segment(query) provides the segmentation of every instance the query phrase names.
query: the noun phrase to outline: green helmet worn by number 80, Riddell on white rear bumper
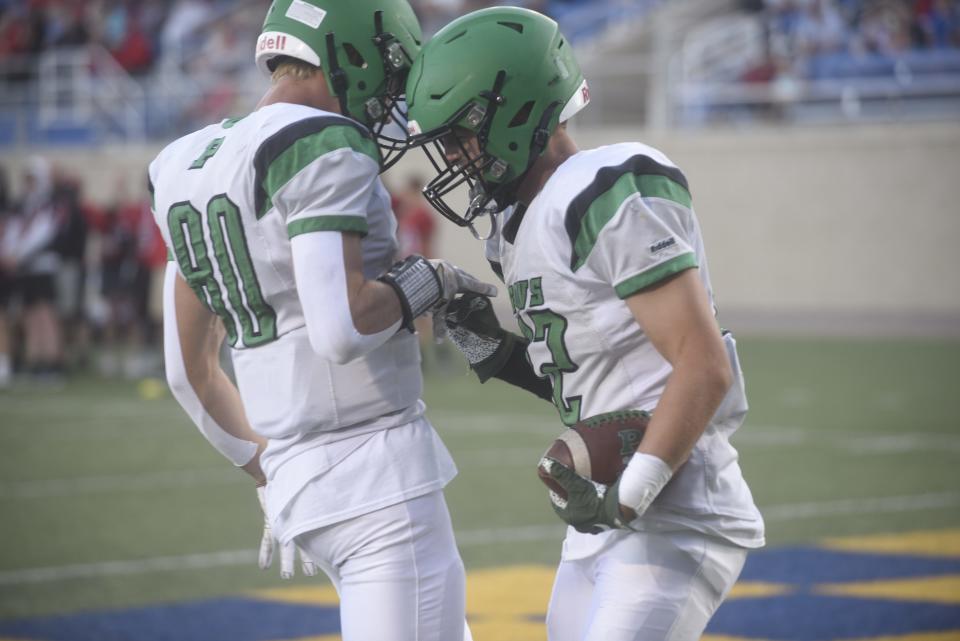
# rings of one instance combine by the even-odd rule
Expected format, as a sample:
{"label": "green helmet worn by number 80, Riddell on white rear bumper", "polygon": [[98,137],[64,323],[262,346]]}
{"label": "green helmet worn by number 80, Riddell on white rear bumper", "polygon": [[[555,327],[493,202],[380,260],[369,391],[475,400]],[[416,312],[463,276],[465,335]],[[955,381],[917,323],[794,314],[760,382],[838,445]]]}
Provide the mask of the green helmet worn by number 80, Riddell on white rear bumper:
{"label": "green helmet worn by number 80, Riddell on white rear bumper", "polygon": [[[274,0],[256,60],[267,74],[283,56],[322,68],[343,115],[373,131],[386,168],[407,148],[402,96],[422,41],[407,0]],[[385,131],[391,122],[400,135]]]}

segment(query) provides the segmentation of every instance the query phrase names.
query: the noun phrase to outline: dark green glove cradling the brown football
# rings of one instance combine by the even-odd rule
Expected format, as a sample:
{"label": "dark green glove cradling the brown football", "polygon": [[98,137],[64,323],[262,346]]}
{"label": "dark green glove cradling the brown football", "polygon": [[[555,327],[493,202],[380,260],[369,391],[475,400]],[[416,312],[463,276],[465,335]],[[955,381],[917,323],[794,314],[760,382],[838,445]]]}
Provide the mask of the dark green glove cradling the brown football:
{"label": "dark green glove cradling the brown football", "polygon": [[550,492],[553,511],[577,532],[599,534],[610,529],[633,529],[620,513],[620,479],[613,485],[603,485],[550,457],[544,457],[541,466],[567,493],[563,499],[556,492]]}

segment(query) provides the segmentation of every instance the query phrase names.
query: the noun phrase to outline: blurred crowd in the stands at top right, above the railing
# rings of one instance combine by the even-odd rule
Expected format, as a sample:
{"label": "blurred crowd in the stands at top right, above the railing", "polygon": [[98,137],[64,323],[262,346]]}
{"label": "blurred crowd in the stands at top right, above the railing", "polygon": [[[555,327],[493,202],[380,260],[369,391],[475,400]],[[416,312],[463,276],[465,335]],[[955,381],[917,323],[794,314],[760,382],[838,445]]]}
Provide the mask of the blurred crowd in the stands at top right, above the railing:
{"label": "blurred crowd in the stands at top right, above the railing", "polygon": [[[960,48],[960,0],[750,0],[768,57],[745,80],[830,76],[868,59]],[[856,71],[856,70],[854,70]],[[870,69],[862,69],[870,75]],[[851,75],[856,75],[851,74]]]}

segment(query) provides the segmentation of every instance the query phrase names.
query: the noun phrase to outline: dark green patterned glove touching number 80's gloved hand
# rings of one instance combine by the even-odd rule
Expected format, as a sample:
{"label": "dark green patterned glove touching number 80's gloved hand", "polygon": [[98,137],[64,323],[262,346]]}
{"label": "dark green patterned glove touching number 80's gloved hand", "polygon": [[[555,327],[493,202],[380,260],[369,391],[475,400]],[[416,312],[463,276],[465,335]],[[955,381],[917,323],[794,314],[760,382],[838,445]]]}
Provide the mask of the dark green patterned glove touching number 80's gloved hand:
{"label": "dark green patterned glove touching number 80's gloved hand", "polygon": [[443,320],[447,337],[481,383],[503,369],[518,337],[500,327],[488,297],[468,292],[455,298],[447,305]]}

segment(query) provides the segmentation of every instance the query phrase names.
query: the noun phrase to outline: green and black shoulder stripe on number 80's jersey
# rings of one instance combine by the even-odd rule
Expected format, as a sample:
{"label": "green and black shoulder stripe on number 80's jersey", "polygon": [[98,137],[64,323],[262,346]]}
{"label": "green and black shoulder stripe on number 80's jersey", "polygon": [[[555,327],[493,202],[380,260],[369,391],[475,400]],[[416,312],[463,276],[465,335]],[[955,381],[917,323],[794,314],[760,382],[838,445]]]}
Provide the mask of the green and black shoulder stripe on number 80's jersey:
{"label": "green and black shoulder stripe on number 80's jersey", "polygon": [[301,169],[336,149],[349,148],[380,165],[380,150],[361,124],[341,116],[317,116],[288,125],[267,138],[253,158],[254,208],[262,218],[272,198]]}

